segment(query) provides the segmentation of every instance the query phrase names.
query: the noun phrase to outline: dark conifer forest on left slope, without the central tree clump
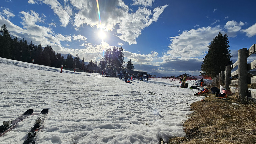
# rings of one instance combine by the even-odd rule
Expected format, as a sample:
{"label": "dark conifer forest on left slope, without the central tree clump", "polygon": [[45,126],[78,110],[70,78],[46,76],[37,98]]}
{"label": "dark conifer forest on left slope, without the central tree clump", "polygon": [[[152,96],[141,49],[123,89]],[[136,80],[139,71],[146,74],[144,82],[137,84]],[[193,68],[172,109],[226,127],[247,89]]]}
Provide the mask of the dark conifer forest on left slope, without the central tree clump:
{"label": "dark conifer forest on left slope, without the central tree clump", "polygon": [[61,67],[62,64],[66,68],[74,68],[75,64],[81,67],[78,54],[74,59],[69,54],[65,60],[63,55],[55,53],[49,45],[42,47],[41,44],[32,44],[32,41],[28,43],[27,40],[18,40],[18,37],[12,39],[5,24],[0,29],[0,57],[29,63],[34,59],[35,64],[52,67]]}

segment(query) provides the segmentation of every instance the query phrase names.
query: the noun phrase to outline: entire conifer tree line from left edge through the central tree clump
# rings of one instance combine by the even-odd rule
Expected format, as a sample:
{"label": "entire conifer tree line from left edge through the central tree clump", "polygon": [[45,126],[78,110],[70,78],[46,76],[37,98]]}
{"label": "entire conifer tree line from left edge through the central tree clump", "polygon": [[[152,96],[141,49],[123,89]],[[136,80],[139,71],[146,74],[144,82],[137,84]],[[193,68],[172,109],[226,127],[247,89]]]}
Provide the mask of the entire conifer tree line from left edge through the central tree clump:
{"label": "entire conifer tree line from left edge through the central tree clump", "polygon": [[68,54],[67,58],[64,59],[63,55],[55,53],[49,45],[42,47],[41,44],[34,45],[32,41],[28,44],[27,40],[18,40],[18,37],[12,39],[5,24],[1,26],[0,30],[0,57],[29,63],[32,63],[32,59],[34,59],[35,64],[52,67],[61,67],[63,65],[64,68],[70,69],[79,68],[87,70],[89,66],[99,67],[102,71],[112,72],[119,72],[125,68],[128,70],[134,69],[131,59],[128,62],[129,64],[127,64],[128,66],[125,67],[122,47],[117,48],[114,46],[108,48],[98,64],[97,61],[90,61],[86,66],[84,58],[81,61],[78,54],[76,54],[75,58]]}

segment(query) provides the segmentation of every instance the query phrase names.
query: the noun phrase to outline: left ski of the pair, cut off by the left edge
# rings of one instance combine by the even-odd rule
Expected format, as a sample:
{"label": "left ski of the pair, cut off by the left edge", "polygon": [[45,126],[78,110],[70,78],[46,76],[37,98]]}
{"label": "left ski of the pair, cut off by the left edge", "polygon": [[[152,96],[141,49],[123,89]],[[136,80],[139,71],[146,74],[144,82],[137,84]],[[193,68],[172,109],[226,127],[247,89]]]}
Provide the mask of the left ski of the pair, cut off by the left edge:
{"label": "left ski of the pair, cut off by the left edge", "polygon": [[25,111],[22,115],[20,115],[18,118],[16,118],[15,120],[4,121],[3,125],[0,126],[0,136],[2,136],[4,133],[11,130],[13,127],[15,127],[15,125],[18,122],[23,121],[25,118],[30,116],[33,112],[34,112],[34,110],[29,109],[29,110]]}

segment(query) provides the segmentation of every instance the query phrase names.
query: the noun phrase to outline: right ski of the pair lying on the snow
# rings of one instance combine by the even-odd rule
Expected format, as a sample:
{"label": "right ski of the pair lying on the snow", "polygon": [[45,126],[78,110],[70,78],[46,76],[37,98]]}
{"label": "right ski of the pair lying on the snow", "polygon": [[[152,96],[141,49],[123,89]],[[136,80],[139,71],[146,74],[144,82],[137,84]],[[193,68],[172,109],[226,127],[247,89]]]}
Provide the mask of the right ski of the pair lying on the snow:
{"label": "right ski of the pair lying on the snow", "polygon": [[35,125],[28,132],[28,136],[23,144],[34,144],[36,141],[36,135],[41,131],[46,116],[48,114],[48,109],[43,109],[36,119]]}

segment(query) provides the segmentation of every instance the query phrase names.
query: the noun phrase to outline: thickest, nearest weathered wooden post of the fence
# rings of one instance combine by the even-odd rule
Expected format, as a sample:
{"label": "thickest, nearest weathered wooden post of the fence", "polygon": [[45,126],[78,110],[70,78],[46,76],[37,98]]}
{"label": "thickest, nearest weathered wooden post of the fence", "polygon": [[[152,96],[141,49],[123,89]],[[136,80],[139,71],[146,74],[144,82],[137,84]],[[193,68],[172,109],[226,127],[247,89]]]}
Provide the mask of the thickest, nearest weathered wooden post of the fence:
{"label": "thickest, nearest weathered wooden post of the fence", "polygon": [[246,102],[247,85],[247,48],[238,50],[238,95]]}

